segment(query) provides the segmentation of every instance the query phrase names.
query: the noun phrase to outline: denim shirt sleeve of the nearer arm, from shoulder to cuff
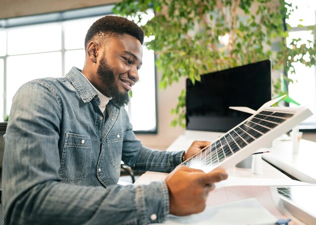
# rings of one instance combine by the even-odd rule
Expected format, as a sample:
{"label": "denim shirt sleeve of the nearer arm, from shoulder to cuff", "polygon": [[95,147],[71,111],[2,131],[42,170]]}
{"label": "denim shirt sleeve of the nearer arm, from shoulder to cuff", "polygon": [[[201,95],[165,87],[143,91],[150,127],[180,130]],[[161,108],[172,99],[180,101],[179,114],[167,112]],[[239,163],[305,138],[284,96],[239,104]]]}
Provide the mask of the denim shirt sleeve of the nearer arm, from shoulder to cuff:
{"label": "denim shirt sleeve of the nearer arm, from shoulder to cuff", "polygon": [[148,224],[169,213],[164,181],[125,187],[78,186],[59,175],[61,104],[37,81],[15,95],[6,134],[6,224]]}

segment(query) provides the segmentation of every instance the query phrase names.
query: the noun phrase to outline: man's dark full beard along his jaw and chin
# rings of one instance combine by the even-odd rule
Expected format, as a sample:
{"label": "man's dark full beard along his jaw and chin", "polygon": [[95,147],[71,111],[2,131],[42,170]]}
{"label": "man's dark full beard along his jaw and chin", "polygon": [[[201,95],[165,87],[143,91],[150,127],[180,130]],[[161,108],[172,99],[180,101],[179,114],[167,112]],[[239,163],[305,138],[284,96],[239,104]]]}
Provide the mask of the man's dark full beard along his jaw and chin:
{"label": "man's dark full beard along his jaw and chin", "polygon": [[97,68],[97,74],[102,81],[103,93],[107,93],[108,97],[112,97],[114,104],[122,107],[129,102],[128,92],[121,93],[116,85],[116,79],[113,70],[107,63],[104,55],[100,59],[100,64]]}

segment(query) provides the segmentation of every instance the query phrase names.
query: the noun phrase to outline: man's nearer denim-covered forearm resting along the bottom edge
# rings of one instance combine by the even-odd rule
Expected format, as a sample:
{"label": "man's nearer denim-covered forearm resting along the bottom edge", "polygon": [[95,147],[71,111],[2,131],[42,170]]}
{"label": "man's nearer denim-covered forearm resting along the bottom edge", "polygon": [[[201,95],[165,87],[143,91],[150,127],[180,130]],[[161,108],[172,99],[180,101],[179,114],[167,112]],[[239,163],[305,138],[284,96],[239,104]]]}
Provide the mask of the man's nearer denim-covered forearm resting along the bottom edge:
{"label": "man's nearer denim-covered forearm resting along the bottom edge", "polygon": [[164,181],[107,189],[46,182],[19,196],[10,212],[8,224],[148,224],[165,220],[169,195]]}

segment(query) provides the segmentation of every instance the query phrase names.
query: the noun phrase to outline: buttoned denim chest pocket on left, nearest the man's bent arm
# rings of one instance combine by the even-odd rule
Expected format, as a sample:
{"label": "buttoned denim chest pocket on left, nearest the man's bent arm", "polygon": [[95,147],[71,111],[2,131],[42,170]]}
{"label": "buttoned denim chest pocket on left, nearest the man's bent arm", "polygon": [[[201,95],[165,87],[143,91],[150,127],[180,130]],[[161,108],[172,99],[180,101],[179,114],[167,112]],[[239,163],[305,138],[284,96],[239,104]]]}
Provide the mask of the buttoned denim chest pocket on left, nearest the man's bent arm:
{"label": "buttoned denim chest pocket on left, nearest the man's bent arm", "polygon": [[66,133],[60,176],[64,182],[83,180],[92,163],[90,136]]}

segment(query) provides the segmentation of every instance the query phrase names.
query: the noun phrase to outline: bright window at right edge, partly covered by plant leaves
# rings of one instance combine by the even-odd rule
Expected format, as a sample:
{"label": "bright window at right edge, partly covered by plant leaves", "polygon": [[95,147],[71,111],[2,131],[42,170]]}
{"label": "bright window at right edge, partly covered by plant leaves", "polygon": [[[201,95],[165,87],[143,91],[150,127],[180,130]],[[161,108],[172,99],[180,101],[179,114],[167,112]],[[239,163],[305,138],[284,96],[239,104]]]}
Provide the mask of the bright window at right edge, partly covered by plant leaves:
{"label": "bright window at right edge, partly covered by plant leaves", "polygon": [[[293,1],[286,0],[287,3],[292,3],[292,7],[297,6],[296,10],[286,22],[292,27],[289,31],[287,43],[291,43],[293,38],[301,38],[302,43],[307,43],[307,40],[314,42],[315,37],[308,31],[308,26],[315,26],[316,4],[314,0]],[[315,29],[315,28],[314,28]],[[299,44],[299,43],[298,43]],[[300,106],[308,107],[313,115],[307,118],[300,124],[300,128],[315,130],[316,129],[316,69],[315,66],[306,67],[302,63],[295,64],[296,75],[293,76],[290,72],[288,77],[297,80],[294,84],[288,86],[289,96]],[[291,107],[298,107],[290,103]]]}

